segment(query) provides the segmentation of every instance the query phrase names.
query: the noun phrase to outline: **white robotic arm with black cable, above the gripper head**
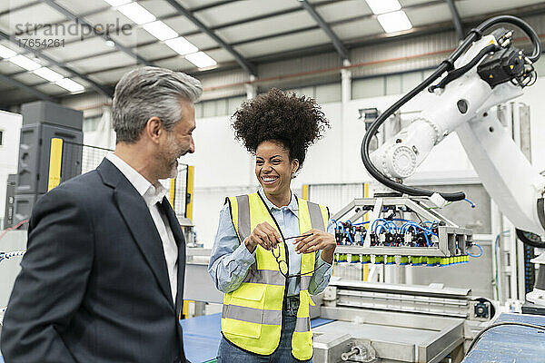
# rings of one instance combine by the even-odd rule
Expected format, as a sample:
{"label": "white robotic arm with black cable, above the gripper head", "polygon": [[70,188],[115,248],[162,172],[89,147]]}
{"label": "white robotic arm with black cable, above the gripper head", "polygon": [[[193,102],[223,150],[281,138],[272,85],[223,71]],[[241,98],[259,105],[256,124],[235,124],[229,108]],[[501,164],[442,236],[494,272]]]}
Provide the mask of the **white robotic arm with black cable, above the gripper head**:
{"label": "white robotic arm with black cable, above the gripper head", "polygon": [[[495,23],[510,21],[513,17],[499,18],[503,19]],[[520,19],[517,21],[516,25],[520,26]],[[523,30],[535,34],[529,26]],[[479,32],[479,29],[475,31]],[[532,41],[535,40],[533,34],[530,34]],[[362,159],[379,182],[410,195],[430,196],[431,191],[402,186],[399,182],[415,172],[433,146],[456,131],[484,187],[500,210],[517,229],[544,235],[542,194],[545,178],[520,152],[495,114],[489,112],[490,107],[520,96],[522,88],[534,80],[529,58],[534,61],[539,58],[539,40],[534,44],[532,57],[527,57],[509,46],[511,35],[512,32],[501,29],[481,37],[479,41],[466,42],[465,53],[459,52],[451,73],[443,77],[438,86],[431,87],[434,88],[432,101],[420,116],[371,155],[365,155],[364,139]],[[436,74],[443,73],[440,72],[438,69]],[[394,106],[399,109],[400,103]],[[394,106],[385,113],[392,113]],[[380,123],[375,126],[376,131]],[[374,133],[372,129],[370,132]],[[370,138],[371,133],[366,134],[366,138]],[[368,166],[370,161],[374,170]],[[396,184],[400,187],[396,188]],[[443,194],[443,198],[455,201],[464,196],[463,193]]]}

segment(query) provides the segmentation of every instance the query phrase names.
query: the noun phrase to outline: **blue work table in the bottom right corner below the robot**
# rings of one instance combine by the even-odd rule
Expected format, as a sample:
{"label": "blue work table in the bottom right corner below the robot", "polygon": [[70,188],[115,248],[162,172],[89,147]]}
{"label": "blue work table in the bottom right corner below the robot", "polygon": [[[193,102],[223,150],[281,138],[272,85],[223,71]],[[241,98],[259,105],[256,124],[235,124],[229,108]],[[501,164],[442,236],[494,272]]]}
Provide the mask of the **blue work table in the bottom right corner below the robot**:
{"label": "blue work table in the bottom right corner below the robot", "polygon": [[[516,321],[545,327],[545,317],[501,314],[496,322]],[[543,363],[545,330],[505,325],[485,332],[462,363]]]}

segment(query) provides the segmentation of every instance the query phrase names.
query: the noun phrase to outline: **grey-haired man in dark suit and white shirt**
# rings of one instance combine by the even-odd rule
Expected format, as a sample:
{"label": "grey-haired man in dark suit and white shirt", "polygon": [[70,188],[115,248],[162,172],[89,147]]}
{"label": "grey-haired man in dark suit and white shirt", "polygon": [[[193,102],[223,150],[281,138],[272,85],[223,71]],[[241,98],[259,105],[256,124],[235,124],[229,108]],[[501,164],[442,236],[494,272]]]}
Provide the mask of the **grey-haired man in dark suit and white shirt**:
{"label": "grey-haired man in dark suit and white shirt", "polygon": [[194,152],[199,81],[144,67],[115,87],[114,154],[36,203],[5,312],[6,363],[186,362],[185,242],[158,182]]}

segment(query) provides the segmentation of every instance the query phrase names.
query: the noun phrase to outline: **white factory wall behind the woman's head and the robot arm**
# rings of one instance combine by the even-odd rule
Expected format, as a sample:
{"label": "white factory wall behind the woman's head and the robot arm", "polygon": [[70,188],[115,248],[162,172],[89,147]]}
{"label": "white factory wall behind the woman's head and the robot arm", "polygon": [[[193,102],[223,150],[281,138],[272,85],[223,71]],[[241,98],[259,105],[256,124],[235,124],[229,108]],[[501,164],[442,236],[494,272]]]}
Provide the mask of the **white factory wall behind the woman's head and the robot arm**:
{"label": "white factory wall behind the woman's head and the robot arm", "polygon": [[[421,110],[427,97],[424,95],[420,100],[414,100],[401,111]],[[299,190],[302,184],[310,183],[370,182],[360,156],[364,125],[362,120],[358,120],[358,109],[377,107],[384,110],[399,98],[398,94],[352,100],[344,125],[341,103],[322,104],[332,128],[322,140],[310,147],[302,172],[292,187]],[[199,242],[205,248],[212,248],[224,198],[254,190],[257,181],[253,173],[253,157],[242,144],[234,141],[229,116],[199,119],[193,134],[196,152],[184,158],[184,162],[195,166],[193,222]],[[415,179],[461,175],[474,177],[476,174],[453,134],[422,163]]]}

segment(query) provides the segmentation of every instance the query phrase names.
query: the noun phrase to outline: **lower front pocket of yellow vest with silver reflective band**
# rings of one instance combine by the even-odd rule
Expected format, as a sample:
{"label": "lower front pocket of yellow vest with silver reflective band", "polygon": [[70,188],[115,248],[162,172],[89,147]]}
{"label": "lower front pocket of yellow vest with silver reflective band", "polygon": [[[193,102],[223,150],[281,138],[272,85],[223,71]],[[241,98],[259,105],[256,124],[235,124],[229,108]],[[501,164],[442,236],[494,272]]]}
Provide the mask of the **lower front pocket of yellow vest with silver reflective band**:
{"label": "lower front pocket of yellow vest with silver reflective band", "polygon": [[233,291],[223,317],[226,319],[223,320],[223,334],[247,338],[261,336],[265,289],[263,285],[244,283]]}

